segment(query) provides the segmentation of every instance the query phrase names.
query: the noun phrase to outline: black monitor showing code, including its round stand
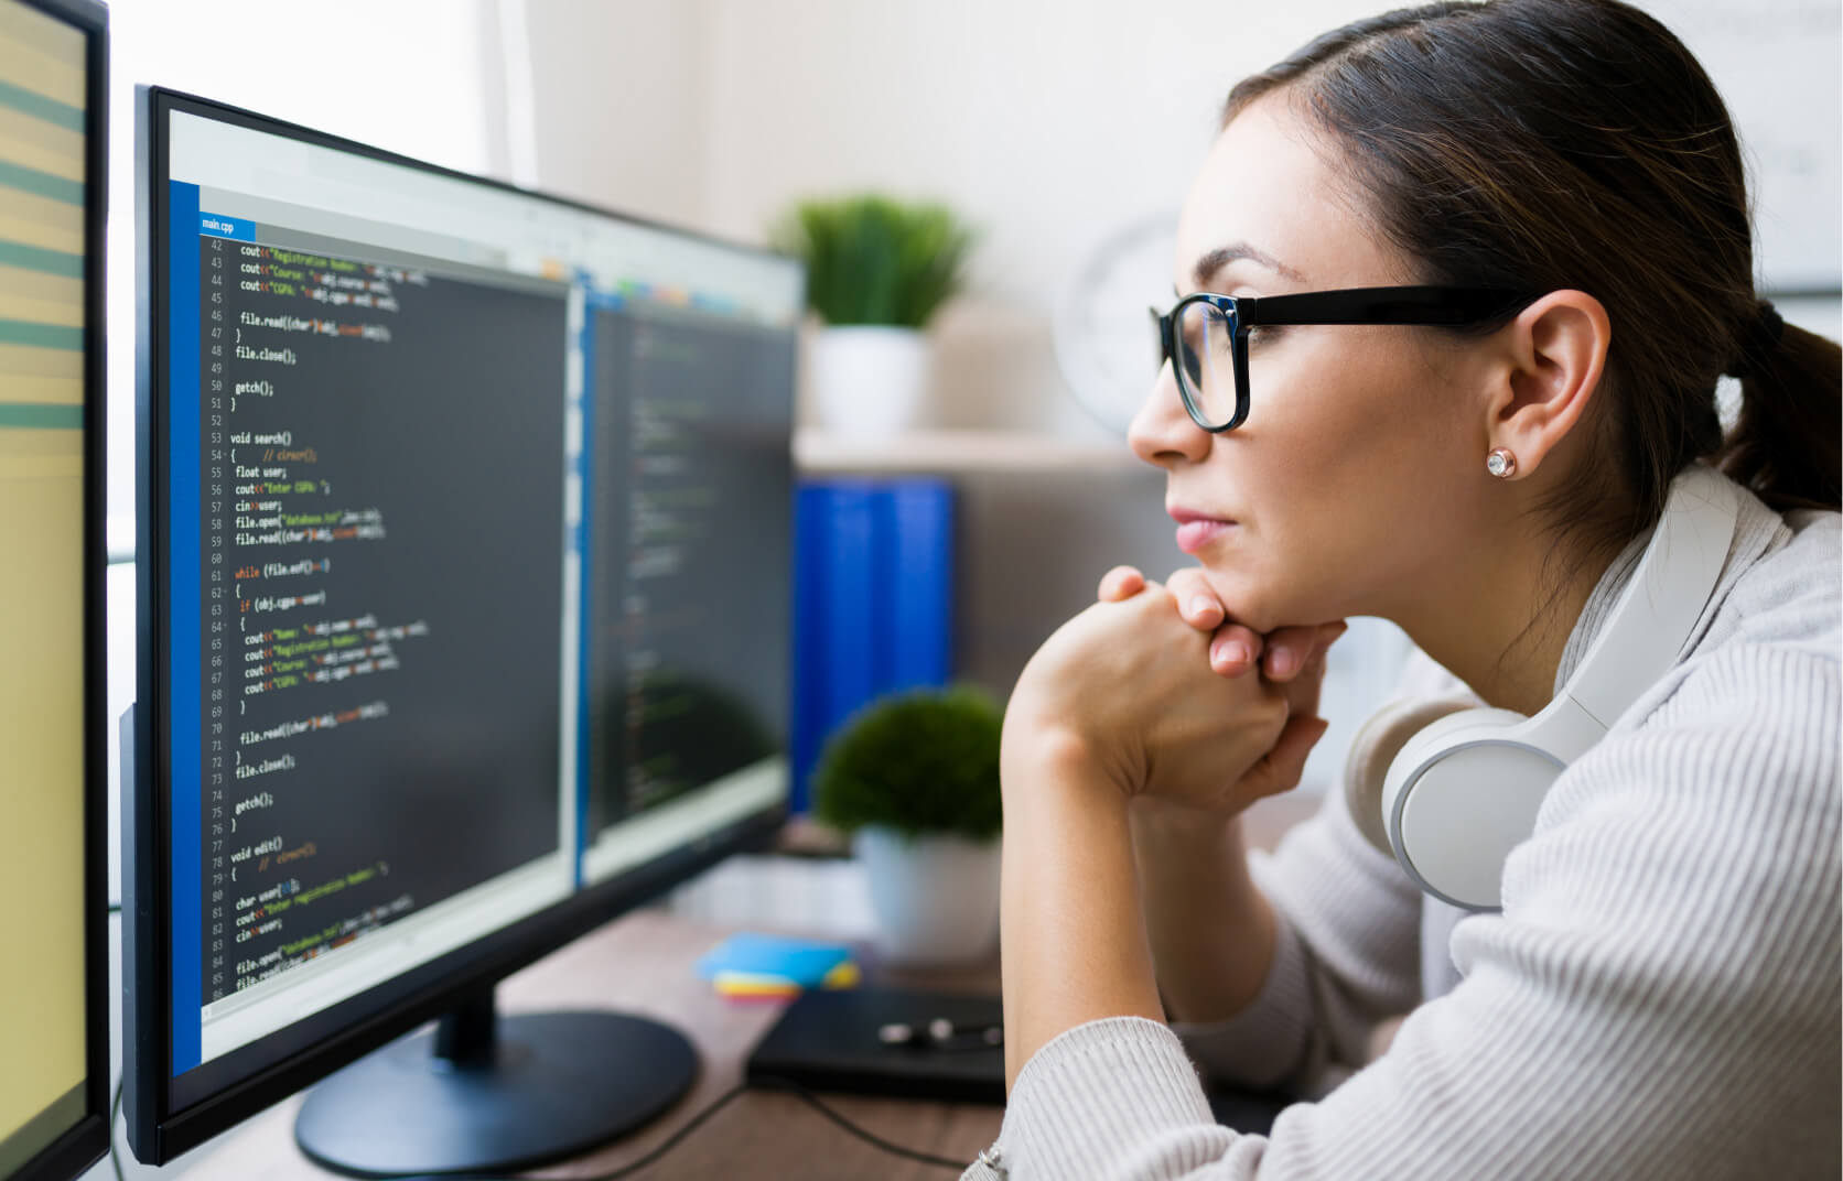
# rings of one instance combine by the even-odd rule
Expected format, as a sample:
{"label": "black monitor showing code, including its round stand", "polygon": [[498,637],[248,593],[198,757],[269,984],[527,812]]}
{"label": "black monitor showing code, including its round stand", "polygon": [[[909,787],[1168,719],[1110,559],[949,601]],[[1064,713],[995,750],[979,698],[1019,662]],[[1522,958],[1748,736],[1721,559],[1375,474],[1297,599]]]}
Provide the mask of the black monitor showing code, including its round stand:
{"label": "black monitor showing code, including its round stand", "polygon": [[496,1023],[492,984],[785,814],[802,271],[199,98],[142,118],[129,1142],[431,1017],[310,1094],[311,1157],[601,1142],[689,1043]]}

